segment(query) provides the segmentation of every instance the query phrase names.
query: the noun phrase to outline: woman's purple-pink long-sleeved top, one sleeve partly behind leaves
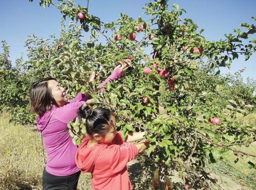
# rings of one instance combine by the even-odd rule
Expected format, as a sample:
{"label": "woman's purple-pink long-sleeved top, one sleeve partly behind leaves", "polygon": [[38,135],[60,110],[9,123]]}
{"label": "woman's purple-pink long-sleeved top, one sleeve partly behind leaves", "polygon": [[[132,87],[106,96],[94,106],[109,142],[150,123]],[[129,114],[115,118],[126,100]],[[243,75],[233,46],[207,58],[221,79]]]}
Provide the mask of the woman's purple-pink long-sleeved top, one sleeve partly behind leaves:
{"label": "woman's purple-pink long-sleeved top, one sleeve partly behind leaves", "polygon": [[[103,86],[110,79],[119,77],[120,68],[117,68],[98,87]],[[105,89],[101,88],[101,90]],[[37,130],[42,132],[46,147],[46,171],[48,173],[55,176],[67,176],[79,171],[75,162],[77,146],[72,143],[67,123],[77,117],[79,107],[89,98],[87,94],[79,93],[76,98],[66,102],[62,107],[53,106],[51,110],[39,114],[36,118]]]}

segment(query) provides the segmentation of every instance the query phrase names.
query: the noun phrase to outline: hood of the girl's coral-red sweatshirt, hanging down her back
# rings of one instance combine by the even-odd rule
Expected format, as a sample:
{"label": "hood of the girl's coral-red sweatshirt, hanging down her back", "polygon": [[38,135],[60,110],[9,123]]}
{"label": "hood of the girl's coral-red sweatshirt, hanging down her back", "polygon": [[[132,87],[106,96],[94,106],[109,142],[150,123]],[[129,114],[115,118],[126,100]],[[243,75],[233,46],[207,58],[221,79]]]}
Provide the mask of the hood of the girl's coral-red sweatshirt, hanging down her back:
{"label": "hood of the girl's coral-red sweatshirt, hanging down her back", "polygon": [[76,165],[82,173],[91,173],[99,153],[108,147],[107,144],[98,144],[87,148],[87,143],[89,140],[90,136],[88,135],[79,145],[76,152]]}

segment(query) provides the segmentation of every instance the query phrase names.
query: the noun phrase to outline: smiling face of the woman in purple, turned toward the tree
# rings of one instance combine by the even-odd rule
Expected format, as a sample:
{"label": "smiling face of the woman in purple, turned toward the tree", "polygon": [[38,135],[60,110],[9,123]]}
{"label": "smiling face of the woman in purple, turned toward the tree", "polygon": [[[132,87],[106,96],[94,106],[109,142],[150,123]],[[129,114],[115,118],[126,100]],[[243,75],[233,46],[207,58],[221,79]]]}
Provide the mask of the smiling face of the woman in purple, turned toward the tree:
{"label": "smiling face of the woman in purple, turned toward the tree", "polygon": [[55,80],[48,81],[48,87],[51,89],[52,96],[57,105],[62,107],[68,101],[64,88]]}

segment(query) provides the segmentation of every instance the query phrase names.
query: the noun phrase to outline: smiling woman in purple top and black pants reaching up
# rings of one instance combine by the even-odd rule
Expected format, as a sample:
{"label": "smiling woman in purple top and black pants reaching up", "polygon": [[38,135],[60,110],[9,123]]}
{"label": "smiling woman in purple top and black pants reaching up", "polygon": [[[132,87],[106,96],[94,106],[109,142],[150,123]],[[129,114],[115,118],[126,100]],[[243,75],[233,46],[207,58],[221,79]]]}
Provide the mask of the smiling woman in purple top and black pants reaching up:
{"label": "smiling woman in purple top and black pants reaching up", "polygon": [[[110,82],[110,79],[119,78],[126,69],[126,64],[117,66],[111,76],[98,87]],[[94,77],[95,74],[90,81]],[[64,89],[53,78],[34,82],[29,96],[31,112],[38,114],[37,130],[42,133],[47,153],[42,175],[43,189],[76,189],[80,176],[75,162],[77,146],[72,143],[67,123],[76,118],[79,107],[90,96],[80,92],[75,99],[68,101]]]}

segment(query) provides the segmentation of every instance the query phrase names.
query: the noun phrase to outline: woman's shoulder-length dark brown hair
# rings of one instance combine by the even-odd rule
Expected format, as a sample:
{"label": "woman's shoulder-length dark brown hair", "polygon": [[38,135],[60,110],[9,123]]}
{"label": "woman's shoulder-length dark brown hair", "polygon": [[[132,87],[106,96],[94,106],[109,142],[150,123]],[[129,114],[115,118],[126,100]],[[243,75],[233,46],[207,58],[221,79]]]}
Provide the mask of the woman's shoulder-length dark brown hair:
{"label": "woman's shoulder-length dark brown hair", "polygon": [[41,114],[51,110],[51,104],[57,105],[48,86],[50,80],[55,79],[44,78],[32,84],[29,90],[30,110],[32,113]]}

